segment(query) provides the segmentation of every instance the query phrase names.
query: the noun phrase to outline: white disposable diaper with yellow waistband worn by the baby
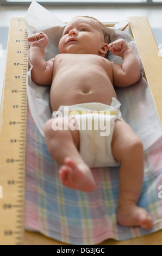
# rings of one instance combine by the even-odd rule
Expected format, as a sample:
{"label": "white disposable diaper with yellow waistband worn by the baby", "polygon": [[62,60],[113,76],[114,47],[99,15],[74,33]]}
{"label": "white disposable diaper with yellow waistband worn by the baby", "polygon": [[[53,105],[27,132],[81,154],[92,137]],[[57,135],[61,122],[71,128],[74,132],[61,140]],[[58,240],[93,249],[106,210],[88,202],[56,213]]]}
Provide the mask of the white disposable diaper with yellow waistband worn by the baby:
{"label": "white disposable diaper with yellow waistband worn by the baby", "polygon": [[79,152],[90,168],[119,166],[111,151],[111,141],[115,121],[122,119],[120,102],[113,97],[111,105],[98,102],[60,106],[52,117],[65,117],[77,120],[79,130]]}

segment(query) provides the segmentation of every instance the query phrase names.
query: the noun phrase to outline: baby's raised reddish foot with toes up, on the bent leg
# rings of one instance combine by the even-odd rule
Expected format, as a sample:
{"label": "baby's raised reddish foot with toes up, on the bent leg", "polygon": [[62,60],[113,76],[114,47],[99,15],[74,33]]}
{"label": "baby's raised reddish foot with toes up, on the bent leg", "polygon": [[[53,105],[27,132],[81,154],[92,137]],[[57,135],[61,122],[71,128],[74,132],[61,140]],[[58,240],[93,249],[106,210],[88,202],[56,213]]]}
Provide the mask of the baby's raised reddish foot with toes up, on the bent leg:
{"label": "baby's raised reddish foot with toes up, on the bent leg", "polygon": [[66,157],[65,165],[59,169],[63,184],[74,190],[91,192],[95,189],[95,180],[90,168],[83,162],[76,164],[70,157]]}

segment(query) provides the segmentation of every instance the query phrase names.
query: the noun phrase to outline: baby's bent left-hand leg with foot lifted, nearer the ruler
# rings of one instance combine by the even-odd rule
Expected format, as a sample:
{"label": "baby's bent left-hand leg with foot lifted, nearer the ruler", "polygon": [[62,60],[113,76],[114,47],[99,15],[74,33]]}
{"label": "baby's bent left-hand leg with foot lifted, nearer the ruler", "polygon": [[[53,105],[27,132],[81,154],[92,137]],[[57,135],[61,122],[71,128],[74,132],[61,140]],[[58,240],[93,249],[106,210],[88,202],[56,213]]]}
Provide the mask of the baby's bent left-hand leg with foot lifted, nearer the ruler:
{"label": "baby's bent left-hand leg with foot lifted, nearer the ruler", "polygon": [[[62,130],[52,129],[54,120],[58,122],[61,120],[60,124],[63,122]],[[49,153],[61,165],[59,174],[63,184],[68,188],[90,192],[95,188],[95,180],[90,168],[78,152],[79,131],[70,128],[64,130],[64,127],[69,127],[70,123],[72,128],[72,120],[71,118],[48,120],[45,125],[45,140]]]}

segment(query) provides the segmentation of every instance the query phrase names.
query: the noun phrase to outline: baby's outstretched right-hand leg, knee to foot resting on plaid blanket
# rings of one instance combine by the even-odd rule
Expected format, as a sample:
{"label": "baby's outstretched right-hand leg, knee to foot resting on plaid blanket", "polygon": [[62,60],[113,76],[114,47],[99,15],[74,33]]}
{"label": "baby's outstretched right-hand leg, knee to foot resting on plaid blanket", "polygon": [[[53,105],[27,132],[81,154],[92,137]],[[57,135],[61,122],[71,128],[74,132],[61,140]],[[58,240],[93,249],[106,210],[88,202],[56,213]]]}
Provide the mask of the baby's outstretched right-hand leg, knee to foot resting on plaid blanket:
{"label": "baby's outstretched right-hand leg, knee to foot resting on plaid blanket", "polygon": [[113,155],[121,163],[117,221],[124,226],[152,228],[152,218],[138,207],[144,178],[144,152],[140,139],[123,121],[115,123]]}

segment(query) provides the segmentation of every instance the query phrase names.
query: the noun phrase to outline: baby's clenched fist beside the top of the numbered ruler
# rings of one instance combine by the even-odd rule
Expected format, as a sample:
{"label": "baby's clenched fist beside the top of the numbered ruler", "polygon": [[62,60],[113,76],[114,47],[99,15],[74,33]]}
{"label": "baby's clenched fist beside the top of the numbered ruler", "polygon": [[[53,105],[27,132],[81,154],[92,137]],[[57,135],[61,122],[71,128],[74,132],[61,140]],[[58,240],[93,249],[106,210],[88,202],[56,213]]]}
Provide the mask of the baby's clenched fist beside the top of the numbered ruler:
{"label": "baby's clenched fist beside the top of the numbered ruler", "polygon": [[29,47],[31,46],[38,46],[45,48],[48,44],[47,35],[43,32],[32,34],[28,37],[28,44]]}

